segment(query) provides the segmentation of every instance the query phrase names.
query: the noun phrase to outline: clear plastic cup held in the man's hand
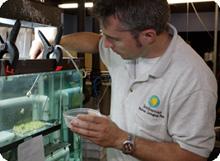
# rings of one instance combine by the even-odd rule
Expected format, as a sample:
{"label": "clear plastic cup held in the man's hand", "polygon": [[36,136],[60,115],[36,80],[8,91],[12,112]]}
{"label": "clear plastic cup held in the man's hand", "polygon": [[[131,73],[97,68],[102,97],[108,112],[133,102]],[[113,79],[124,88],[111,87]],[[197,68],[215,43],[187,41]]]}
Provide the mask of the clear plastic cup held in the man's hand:
{"label": "clear plastic cup held in the man's hand", "polygon": [[70,110],[63,112],[64,120],[65,120],[67,127],[70,128],[70,122],[73,119],[76,119],[78,114],[100,115],[101,116],[101,113],[99,111],[91,109],[91,108],[70,109]]}

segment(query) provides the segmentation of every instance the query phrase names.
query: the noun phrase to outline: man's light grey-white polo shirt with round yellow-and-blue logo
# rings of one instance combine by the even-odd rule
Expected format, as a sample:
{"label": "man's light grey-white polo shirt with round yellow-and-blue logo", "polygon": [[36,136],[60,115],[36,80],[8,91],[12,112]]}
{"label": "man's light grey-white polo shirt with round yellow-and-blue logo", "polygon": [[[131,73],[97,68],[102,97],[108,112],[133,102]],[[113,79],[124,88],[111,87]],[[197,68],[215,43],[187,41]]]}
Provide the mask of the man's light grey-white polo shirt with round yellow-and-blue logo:
{"label": "man's light grey-white polo shirt with round yellow-and-blue logo", "polygon": [[[215,142],[216,79],[171,25],[170,32],[169,47],[150,66],[143,58],[123,60],[101,39],[100,55],[112,79],[110,115],[121,129],[136,136],[175,142],[208,157]],[[108,161],[134,160],[109,150]]]}

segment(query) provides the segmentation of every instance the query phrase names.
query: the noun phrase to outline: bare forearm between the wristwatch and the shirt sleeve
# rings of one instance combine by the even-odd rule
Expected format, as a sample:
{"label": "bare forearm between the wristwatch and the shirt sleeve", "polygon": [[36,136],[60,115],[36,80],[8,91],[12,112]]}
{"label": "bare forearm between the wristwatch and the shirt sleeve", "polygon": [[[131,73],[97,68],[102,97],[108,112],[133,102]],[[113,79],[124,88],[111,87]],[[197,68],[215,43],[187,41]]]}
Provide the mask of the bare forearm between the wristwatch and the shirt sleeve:
{"label": "bare forearm between the wristwatch and the shirt sleeve", "polygon": [[199,155],[182,149],[176,143],[155,142],[137,137],[134,157],[146,161],[206,161]]}

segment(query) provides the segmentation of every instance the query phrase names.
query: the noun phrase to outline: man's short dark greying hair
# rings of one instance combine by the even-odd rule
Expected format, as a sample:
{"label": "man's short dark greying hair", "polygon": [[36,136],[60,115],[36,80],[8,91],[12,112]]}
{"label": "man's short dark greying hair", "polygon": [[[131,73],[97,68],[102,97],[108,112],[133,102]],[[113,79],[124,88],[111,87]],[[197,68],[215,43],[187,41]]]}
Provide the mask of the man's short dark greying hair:
{"label": "man's short dark greying hair", "polygon": [[94,15],[106,25],[115,16],[125,30],[137,34],[154,29],[157,34],[167,29],[170,8],[167,0],[95,0]]}

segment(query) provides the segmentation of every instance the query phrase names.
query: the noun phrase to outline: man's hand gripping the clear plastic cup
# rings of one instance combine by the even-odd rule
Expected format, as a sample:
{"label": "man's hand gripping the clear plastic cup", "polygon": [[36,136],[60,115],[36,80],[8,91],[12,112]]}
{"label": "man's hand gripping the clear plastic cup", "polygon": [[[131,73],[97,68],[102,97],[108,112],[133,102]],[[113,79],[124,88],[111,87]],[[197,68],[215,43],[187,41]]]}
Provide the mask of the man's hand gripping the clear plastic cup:
{"label": "man's hand gripping the clear plastic cup", "polygon": [[71,130],[103,147],[121,149],[127,139],[127,133],[107,116],[80,114],[71,122]]}

